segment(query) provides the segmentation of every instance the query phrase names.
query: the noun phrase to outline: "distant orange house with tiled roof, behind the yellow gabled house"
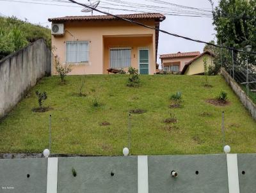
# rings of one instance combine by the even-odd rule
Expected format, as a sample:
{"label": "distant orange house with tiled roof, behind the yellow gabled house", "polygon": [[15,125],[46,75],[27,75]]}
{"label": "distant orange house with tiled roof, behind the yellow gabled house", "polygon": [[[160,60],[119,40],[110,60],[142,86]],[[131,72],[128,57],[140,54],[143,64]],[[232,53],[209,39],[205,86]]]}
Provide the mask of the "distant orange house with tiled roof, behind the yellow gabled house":
{"label": "distant orange house with tiled roof, behind the yellow gabled house", "polygon": [[200,52],[177,52],[160,55],[162,69],[167,72],[181,72],[186,63],[199,55]]}

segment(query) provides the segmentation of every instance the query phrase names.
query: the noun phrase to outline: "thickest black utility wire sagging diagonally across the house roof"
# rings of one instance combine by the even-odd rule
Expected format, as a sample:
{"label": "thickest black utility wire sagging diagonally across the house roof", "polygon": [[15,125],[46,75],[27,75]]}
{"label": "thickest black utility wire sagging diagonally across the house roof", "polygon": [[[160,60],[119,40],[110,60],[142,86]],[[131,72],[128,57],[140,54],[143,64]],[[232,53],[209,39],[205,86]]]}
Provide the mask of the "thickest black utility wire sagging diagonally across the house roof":
{"label": "thickest black utility wire sagging diagonally across the house roof", "polygon": [[112,17],[114,17],[114,18],[116,18],[116,19],[125,20],[125,21],[127,21],[127,22],[130,22],[130,23],[133,23],[133,24],[137,24],[138,26],[147,27],[148,29],[154,29],[154,30],[156,30],[156,31],[160,31],[160,32],[162,32],[162,33],[165,33],[165,34],[168,34],[168,35],[171,35],[171,36],[175,36],[175,37],[178,37],[178,38],[183,38],[183,39],[185,39],[185,40],[190,40],[190,41],[193,41],[193,42],[205,43],[205,44],[207,44],[207,45],[212,45],[212,46],[214,46],[214,47],[225,48],[225,49],[228,49],[228,50],[236,50],[237,52],[250,53],[250,54],[255,54],[255,55],[256,55],[256,52],[247,52],[247,51],[235,49],[235,48],[232,48],[232,47],[225,47],[225,46],[221,46],[221,45],[216,45],[216,44],[214,44],[214,43],[204,42],[204,41],[202,41],[202,40],[195,40],[195,39],[192,39],[192,38],[188,38],[188,37],[186,37],[186,36],[180,36],[180,35],[177,35],[177,34],[174,34],[174,33],[170,33],[170,32],[168,32],[168,31],[164,31],[164,30],[162,30],[162,29],[158,29],[158,28],[156,28],[156,27],[147,26],[147,25],[145,25],[145,24],[142,24],[142,23],[137,22],[137,21],[134,21],[134,20],[125,19],[125,18],[120,17],[120,16],[118,16],[118,15],[113,15],[113,14],[111,14],[111,13],[102,12],[102,11],[98,10],[97,8],[93,8],[93,7],[91,7],[91,6],[88,6],[87,4],[78,3],[78,2],[76,2],[76,1],[74,1],[74,0],[68,0],[68,1],[70,1],[70,2],[72,2],[72,3],[75,3],[75,4],[79,4],[79,5],[84,6],[84,7],[86,7],[86,8],[90,8],[90,9],[92,9],[93,11],[96,11],[96,12],[99,12],[99,13],[103,13],[103,14],[105,14],[105,15],[112,16]]}

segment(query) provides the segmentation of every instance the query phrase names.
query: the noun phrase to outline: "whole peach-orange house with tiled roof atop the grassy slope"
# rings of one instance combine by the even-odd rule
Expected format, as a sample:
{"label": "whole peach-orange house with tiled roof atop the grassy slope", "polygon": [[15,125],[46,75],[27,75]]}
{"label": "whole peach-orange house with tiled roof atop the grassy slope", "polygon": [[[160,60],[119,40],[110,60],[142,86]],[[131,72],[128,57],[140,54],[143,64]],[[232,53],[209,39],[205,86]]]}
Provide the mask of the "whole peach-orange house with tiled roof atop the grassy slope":
{"label": "whole peach-orange house with tiled roof atop the grassy slope", "polygon": [[[159,28],[160,13],[118,15]],[[156,73],[159,31],[108,15],[67,16],[52,22],[52,47],[70,75],[104,74],[109,68],[137,68],[140,74]],[[60,34],[58,31],[60,30]],[[56,74],[52,67],[52,74]]]}

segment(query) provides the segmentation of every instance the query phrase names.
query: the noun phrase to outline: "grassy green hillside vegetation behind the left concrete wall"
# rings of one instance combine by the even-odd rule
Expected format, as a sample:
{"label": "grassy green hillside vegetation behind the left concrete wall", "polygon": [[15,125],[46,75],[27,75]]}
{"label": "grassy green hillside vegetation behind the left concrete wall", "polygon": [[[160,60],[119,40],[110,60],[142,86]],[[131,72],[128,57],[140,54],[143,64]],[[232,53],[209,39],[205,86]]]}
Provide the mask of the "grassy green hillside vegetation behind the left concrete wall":
{"label": "grassy green hillside vegetation behind the left concrete wall", "polygon": [[50,29],[30,24],[17,17],[0,17],[0,59],[39,38],[44,38],[51,47]]}

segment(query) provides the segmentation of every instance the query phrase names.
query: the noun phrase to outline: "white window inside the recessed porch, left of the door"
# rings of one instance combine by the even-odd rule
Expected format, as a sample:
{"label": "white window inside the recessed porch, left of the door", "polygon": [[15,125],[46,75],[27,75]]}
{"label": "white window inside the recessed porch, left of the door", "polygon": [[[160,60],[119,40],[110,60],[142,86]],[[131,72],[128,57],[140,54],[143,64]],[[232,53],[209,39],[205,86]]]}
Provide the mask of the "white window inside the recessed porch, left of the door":
{"label": "white window inside the recessed porch, left of the door", "polygon": [[110,49],[110,68],[131,66],[131,49]]}

